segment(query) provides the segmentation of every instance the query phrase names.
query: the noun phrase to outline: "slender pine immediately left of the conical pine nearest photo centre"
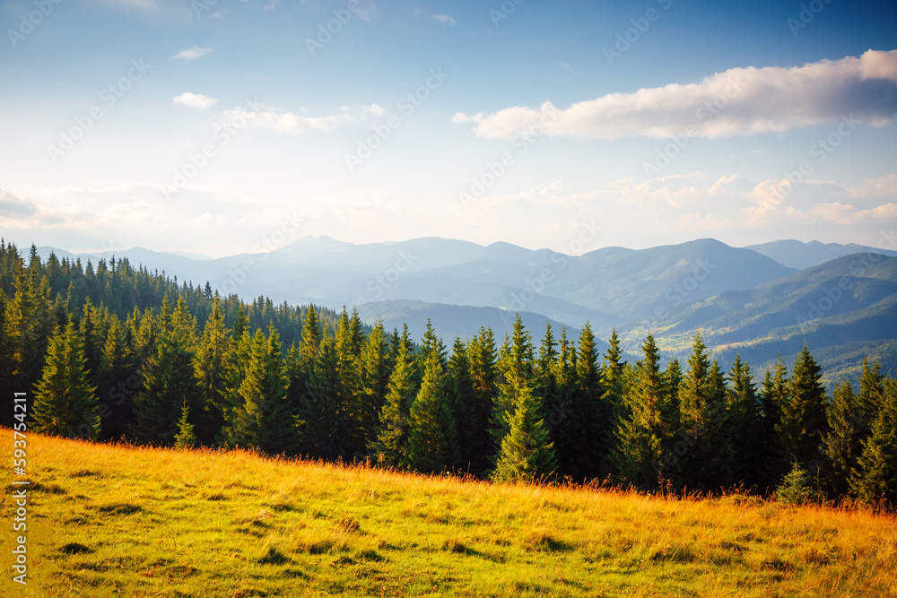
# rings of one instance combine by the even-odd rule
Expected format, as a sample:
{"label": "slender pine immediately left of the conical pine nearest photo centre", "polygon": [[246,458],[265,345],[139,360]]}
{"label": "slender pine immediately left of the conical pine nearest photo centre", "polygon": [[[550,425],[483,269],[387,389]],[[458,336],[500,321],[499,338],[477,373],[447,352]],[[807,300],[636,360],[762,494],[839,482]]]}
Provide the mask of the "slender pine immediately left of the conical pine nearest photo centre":
{"label": "slender pine immediately left of the conical pine nearest photo centre", "polygon": [[414,358],[410,352],[408,326],[405,325],[402,340],[398,343],[396,365],[389,377],[386,403],[380,412],[380,429],[377,441],[370,452],[377,463],[384,467],[408,466],[408,431],[411,419],[411,403],[417,395],[414,382]]}

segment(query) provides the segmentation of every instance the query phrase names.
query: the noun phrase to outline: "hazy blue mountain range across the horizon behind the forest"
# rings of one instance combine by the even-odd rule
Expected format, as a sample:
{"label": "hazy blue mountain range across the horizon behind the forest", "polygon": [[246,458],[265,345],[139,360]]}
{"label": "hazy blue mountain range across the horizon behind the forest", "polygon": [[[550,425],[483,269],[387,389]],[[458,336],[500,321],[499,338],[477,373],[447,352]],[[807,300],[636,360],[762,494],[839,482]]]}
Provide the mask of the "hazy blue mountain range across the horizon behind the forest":
{"label": "hazy blue mountain range across the horizon behind the forest", "polygon": [[[39,247],[43,257],[51,251],[82,261],[113,257]],[[630,357],[649,332],[670,356],[684,354],[700,330],[721,360],[737,352],[761,368],[779,353],[788,361],[804,342],[830,377],[854,374],[864,355],[897,366],[897,251],[858,245],[729,247],[705,238],[568,256],[445,238],[305,237],[269,253],[216,259],[141,247],[121,256],[244,299],[355,307],[389,329],[407,323],[415,338],[430,318],[447,342],[481,325],[501,339],[520,312],[536,341],[548,323],[566,325],[571,336],[588,322],[601,339],[615,327]]]}

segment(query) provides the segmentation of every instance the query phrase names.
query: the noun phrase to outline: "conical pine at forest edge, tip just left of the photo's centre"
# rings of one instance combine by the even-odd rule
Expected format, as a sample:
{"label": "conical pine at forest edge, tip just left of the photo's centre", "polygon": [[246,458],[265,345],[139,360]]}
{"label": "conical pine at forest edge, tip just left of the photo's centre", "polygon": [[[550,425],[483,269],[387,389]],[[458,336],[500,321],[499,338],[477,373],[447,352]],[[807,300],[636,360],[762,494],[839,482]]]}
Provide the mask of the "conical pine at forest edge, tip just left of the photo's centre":
{"label": "conical pine at forest edge, tip just left of the photo's centre", "polygon": [[408,462],[418,472],[444,472],[457,466],[457,431],[440,344],[424,361],[421,388],[411,404]]}

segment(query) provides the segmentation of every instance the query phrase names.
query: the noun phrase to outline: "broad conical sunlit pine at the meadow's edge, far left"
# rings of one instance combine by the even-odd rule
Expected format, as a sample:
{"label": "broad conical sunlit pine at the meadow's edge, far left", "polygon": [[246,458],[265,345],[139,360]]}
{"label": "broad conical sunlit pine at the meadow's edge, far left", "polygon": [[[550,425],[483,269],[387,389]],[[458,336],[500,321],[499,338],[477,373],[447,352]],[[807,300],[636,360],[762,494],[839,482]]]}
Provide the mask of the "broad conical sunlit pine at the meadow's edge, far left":
{"label": "broad conical sunlit pine at the meadow's edge, far left", "polygon": [[31,429],[68,438],[100,433],[96,388],[88,382],[81,335],[73,323],[51,336],[47,365],[35,386]]}

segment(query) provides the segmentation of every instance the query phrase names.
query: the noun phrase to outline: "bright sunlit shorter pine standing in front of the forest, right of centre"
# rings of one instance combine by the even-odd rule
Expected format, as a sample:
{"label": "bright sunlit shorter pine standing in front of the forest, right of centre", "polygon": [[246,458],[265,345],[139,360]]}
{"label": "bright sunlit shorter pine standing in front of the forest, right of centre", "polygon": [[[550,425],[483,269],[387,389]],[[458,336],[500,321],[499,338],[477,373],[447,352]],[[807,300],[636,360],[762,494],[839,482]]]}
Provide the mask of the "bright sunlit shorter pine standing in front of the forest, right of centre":
{"label": "bright sunlit shorter pine standing in front of the forest, right of centre", "polygon": [[492,479],[534,481],[551,477],[555,472],[554,449],[539,417],[540,402],[528,384],[518,386],[516,399]]}

